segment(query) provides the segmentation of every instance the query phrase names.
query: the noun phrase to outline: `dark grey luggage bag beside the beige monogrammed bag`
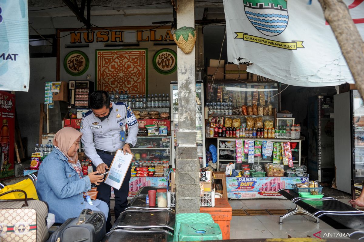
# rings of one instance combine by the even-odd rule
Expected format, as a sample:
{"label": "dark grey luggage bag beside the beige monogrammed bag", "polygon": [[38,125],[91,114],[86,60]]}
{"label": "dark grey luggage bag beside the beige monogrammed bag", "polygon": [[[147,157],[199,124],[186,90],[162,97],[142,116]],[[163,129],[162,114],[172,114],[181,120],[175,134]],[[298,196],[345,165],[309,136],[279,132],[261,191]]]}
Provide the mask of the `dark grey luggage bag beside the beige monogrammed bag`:
{"label": "dark grey luggage bag beside the beige monogrammed bag", "polygon": [[99,242],[106,232],[106,218],[100,211],[83,209],[78,218],[69,218],[56,229],[49,242]]}

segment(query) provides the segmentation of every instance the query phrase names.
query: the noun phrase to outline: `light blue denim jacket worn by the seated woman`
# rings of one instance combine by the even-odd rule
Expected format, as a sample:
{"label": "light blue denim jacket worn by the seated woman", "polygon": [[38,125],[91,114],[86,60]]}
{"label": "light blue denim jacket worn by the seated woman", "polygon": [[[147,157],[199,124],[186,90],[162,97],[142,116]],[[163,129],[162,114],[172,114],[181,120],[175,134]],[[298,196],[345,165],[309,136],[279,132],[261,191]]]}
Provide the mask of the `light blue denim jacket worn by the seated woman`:
{"label": "light blue denim jacket worn by the seated woman", "polygon": [[56,223],[63,223],[86,208],[83,192],[91,190],[91,182],[88,176],[80,179],[67,157],[54,148],[39,167],[36,190],[55,214]]}

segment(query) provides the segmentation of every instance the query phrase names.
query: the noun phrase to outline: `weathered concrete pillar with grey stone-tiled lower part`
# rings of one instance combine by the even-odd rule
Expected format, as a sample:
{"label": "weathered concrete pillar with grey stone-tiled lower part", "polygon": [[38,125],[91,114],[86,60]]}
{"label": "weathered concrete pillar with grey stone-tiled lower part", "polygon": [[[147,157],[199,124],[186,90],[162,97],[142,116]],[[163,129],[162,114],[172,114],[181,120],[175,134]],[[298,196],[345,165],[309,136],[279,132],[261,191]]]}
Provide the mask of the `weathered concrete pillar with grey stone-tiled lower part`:
{"label": "weathered concrete pillar with grey stone-tiled lower part", "polygon": [[[195,26],[194,1],[177,1],[177,28]],[[199,38],[199,36],[197,36]],[[198,213],[199,161],[196,147],[195,49],[177,48],[178,132],[176,149],[176,212]]]}

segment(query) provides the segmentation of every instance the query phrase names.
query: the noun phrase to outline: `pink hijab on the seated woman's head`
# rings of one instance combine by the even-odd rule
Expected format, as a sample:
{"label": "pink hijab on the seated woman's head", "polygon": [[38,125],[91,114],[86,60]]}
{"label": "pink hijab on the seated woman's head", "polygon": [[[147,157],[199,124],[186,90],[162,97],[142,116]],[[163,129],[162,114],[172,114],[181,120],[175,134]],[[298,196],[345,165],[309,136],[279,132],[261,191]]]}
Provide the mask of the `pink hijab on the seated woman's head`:
{"label": "pink hijab on the seated woman's head", "polygon": [[54,145],[57,146],[60,151],[68,158],[68,160],[77,161],[78,154],[76,153],[73,157],[68,156],[68,150],[71,148],[72,144],[80,138],[82,133],[75,130],[72,127],[64,127],[59,130],[54,136]]}

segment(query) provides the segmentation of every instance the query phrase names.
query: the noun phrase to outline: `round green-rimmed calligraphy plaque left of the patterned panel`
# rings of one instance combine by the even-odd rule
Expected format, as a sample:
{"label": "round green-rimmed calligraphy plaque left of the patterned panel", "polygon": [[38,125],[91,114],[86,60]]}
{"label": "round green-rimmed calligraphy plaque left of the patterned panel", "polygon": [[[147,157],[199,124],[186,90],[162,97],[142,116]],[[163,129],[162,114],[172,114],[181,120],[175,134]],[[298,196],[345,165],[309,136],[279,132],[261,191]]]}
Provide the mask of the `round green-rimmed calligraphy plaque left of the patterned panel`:
{"label": "round green-rimmed calligraphy plaque left of the patterned panel", "polygon": [[63,62],[64,69],[73,76],[84,74],[88,69],[88,64],[87,55],[79,50],[68,53]]}

